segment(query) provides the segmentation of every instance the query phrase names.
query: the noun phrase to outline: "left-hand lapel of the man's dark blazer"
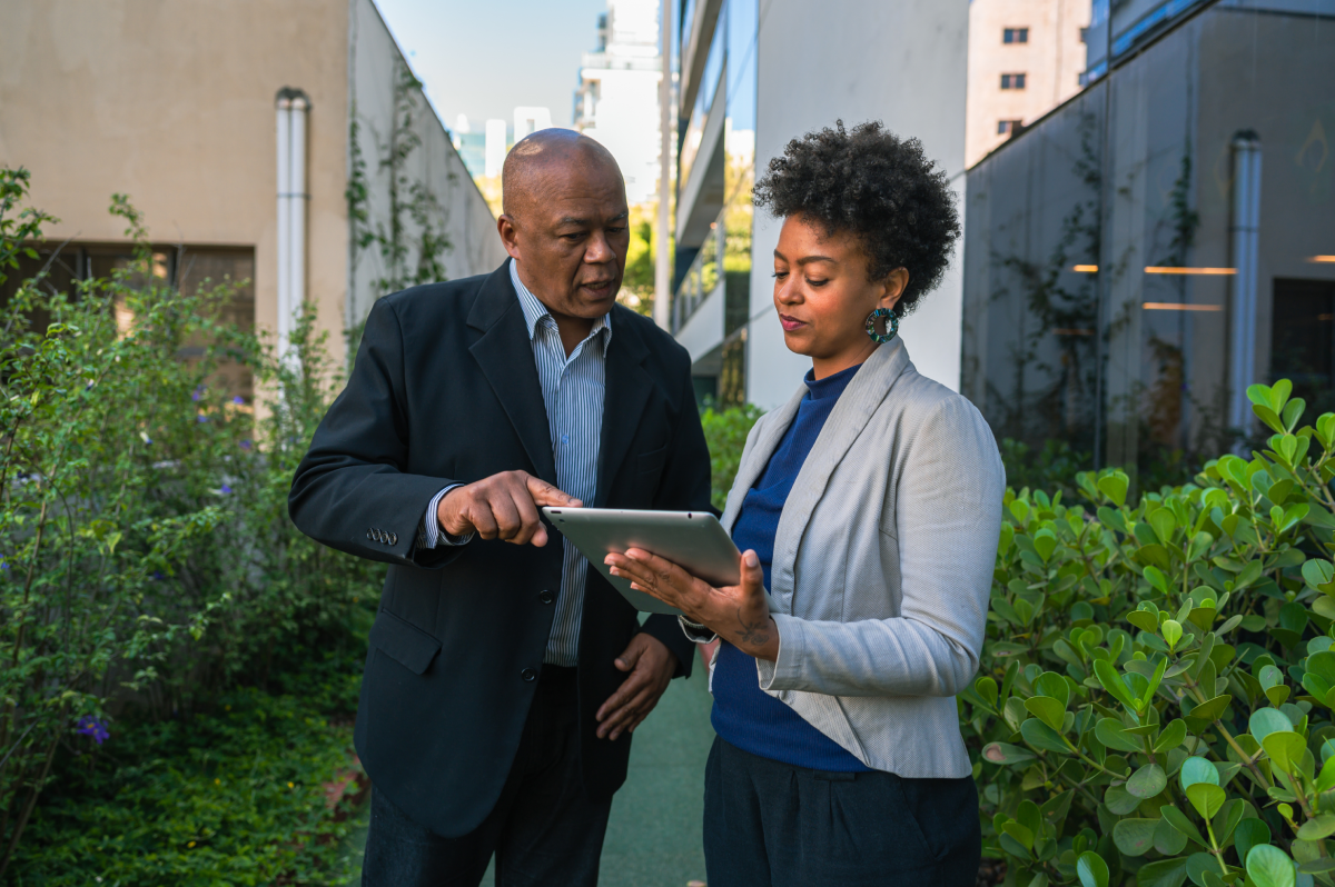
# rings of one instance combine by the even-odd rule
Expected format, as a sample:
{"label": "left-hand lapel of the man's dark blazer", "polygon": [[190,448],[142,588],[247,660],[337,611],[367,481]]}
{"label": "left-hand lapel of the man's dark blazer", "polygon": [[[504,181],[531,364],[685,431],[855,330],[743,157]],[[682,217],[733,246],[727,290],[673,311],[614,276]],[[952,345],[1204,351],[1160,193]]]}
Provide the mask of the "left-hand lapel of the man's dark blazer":
{"label": "left-hand lapel of the man's dark blazer", "polygon": [[557,483],[557,460],[551,454],[551,428],[542,401],[538,364],[533,359],[523,307],[510,281],[510,261],[491,272],[469,311],[469,325],[482,335],[469,345],[482,373],[501,401],[510,424],[529,454],[534,474]]}

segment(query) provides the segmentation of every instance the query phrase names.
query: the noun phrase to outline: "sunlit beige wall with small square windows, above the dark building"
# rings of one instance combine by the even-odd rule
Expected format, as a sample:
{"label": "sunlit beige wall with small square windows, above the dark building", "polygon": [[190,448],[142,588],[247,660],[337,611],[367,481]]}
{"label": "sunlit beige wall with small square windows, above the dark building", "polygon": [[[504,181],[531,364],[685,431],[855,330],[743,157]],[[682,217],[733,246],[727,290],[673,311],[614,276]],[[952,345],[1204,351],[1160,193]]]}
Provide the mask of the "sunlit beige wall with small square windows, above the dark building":
{"label": "sunlit beige wall with small square windows, above the dark building", "polygon": [[[965,163],[976,164],[1009,136],[999,120],[1031,124],[1080,91],[1089,0],[973,0],[969,4],[969,99]],[[1029,41],[1005,44],[1005,28]],[[1024,89],[1001,89],[1003,73],[1025,73]]]}

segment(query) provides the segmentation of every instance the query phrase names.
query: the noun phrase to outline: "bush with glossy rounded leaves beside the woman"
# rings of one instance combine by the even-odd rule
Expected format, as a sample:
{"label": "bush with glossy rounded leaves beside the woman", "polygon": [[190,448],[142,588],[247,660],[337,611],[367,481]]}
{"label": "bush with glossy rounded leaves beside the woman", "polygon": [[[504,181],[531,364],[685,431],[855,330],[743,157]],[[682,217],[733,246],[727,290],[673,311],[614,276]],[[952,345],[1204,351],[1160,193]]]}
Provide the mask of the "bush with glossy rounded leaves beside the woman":
{"label": "bush with glossy rounded leaves beside the woman", "polygon": [[1252,385],[1268,447],[1193,483],[1007,494],[960,712],[1008,883],[1332,883],[1335,415],[1291,389]]}

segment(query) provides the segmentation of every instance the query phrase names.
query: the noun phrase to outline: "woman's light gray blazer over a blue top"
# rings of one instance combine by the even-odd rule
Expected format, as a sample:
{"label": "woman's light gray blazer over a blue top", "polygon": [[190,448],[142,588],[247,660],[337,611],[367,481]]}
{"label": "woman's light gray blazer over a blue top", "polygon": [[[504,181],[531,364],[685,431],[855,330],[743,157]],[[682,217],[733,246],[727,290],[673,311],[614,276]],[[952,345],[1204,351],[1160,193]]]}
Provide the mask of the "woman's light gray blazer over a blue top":
{"label": "woman's light gray blazer over a blue top", "polygon": [[[722,524],[797,415],[802,385],[752,428]],[[965,397],[904,343],[857,371],[802,464],[774,536],[777,662],[761,690],[873,770],[971,774],[955,694],[983,650],[1005,471]]]}

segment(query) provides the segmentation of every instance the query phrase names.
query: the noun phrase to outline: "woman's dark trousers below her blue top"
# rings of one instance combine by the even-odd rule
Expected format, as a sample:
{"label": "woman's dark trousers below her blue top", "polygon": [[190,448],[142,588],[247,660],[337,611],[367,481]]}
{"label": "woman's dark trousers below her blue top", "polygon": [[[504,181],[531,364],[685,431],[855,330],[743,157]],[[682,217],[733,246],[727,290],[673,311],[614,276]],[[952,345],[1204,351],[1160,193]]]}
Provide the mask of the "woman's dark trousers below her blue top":
{"label": "woman's dark trousers below her blue top", "polygon": [[973,779],[790,767],[714,739],[705,868],[720,887],[973,887]]}

